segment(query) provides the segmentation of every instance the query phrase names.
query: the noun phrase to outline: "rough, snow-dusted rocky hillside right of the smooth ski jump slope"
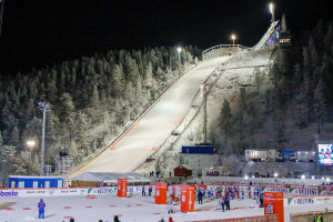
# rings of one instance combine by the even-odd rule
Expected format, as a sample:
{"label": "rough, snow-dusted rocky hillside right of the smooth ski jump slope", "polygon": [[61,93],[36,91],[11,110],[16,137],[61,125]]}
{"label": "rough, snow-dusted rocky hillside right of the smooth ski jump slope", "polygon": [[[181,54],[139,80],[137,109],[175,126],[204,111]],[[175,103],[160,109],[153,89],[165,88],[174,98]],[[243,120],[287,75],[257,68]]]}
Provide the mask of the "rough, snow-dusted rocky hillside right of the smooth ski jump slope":
{"label": "rough, snow-dusted rocky hillside right of the smooth ski jump slope", "polygon": [[[221,144],[222,139],[221,141],[212,140],[215,133],[214,131],[219,130],[219,113],[222,109],[223,100],[226,99],[231,107],[233,107],[233,104],[239,101],[240,88],[246,87],[246,90],[249,91],[255,88],[253,79],[254,70],[260,69],[268,75],[273,62],[274,54],[272,50],[239,53],[224,62],[223,70],[219,71],[221,77],[208,95],[208,142],[223,147],[223,144]],[[266,79],[269,78],[266,77]],[[189,115],[190,114],[192,113],[189,112]],[[188,119],[188,117],[185,119]],[[230,170],[232,168],[233,173],[239,172],[239,167],[242,168],[243,164],[240,164],[239,161],[226,161],[229,158],[222,158],[221,155],[201,155],[199,158],[194,158],[195,155],[191,154],[189,157],[186,157],[186,154],[179,154],[182,145],[194,145],[203,142],[202,120],[203,115],[201,109],[200,113],[196,115],[194,121],[192,121],[191,125],[183,132],[182,137],[173,143],[173,149],[171,151],[167,151],[160,160],[158,160],[158,164],[160,164],[165,174],[172,171],[180,163],[190,165],[194,170],[194,173],[198,170],[200,171],[202,168],[213,165],[228,165]],[[184,129],[182,125],[179,128]],[[220,150],[220,153],[221,152],[225,153],[225,150]],[[147,164],[147,168],[154,170],[153,165]],[[143,169],[142,172],[144,172]]]}

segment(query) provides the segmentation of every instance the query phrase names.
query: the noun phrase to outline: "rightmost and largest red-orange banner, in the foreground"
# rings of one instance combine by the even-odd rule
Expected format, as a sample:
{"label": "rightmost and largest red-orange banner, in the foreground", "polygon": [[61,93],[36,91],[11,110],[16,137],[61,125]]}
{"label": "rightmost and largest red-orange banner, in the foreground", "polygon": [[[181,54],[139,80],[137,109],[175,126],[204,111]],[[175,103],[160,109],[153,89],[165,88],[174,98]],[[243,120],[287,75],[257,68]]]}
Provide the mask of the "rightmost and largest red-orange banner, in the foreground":
{"label": "rightmost and largest red-orange banner, in the foreground", "polygon": [[264,192],[264,212],[278,214],[279,222],[284,221],[283,192]]}

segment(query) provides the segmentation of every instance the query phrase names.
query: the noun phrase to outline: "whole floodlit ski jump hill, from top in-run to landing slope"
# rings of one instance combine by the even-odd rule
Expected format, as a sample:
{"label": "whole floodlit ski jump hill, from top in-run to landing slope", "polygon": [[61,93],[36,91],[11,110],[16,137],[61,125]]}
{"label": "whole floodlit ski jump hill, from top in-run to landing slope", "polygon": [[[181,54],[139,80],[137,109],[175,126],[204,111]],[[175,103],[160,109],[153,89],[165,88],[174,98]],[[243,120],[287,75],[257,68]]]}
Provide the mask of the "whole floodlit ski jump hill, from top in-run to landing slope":
{"label": "whole floodlit ski jump hill, from top in-run to landing slope", "polygon": [[[85,172],[133,172],[149,160],[155,160],[170,148],[170,137],[190,112],[189,108],[200,94],[201,84],[205,83],[213,73],[223,71],[224,68],[221,65],[225,67],[234,56],[242,57],[246,52],[263,49],[278,23],[278,21],[272,22],[253,48],[220,44],[204,50],[203,62],[185,72],[118,140],[89,162],[78,167],[70,178]],[[226,67],[242,69],[234,62]],[[172,138],[174,140],[174,134]]]}

